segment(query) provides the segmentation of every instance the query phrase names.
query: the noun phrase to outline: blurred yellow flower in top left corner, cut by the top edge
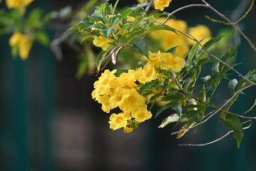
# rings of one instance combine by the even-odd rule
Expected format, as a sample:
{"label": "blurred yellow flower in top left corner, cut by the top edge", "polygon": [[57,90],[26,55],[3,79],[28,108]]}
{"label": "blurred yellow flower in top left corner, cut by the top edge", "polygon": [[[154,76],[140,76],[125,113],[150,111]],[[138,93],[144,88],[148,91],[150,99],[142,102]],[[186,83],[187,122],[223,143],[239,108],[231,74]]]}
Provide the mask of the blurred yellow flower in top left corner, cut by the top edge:
{"label": "blurred yellow flower in top left corner, cut by the top edge", "polygon": [[26,6],[28,6],[34,0],[6,0],[6,6],[9,9],[19,9],[21,14],[26,11]]}

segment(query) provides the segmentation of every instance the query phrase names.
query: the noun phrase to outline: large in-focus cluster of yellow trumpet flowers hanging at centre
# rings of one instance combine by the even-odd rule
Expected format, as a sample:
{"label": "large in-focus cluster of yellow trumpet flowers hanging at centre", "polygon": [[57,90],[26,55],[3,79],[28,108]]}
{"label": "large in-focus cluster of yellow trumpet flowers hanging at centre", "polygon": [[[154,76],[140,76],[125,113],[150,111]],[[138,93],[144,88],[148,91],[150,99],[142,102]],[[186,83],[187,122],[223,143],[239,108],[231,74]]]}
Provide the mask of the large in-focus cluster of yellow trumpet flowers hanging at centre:
{"label": "large in-focus cluster of yellow trumpet flowers hanging at centre", "polygon": [[101,109],[109,113],[113,108],[119,108],[121,113],[113,113],[108,123],[110,128],[117,130],[124,128],[125,133],[130,133],[142,123],[152,117],[147,109],[145,98],[138,93],[138,84],[146,83],[157,78],[153,63],[147,63],[138,70],[129,70],[128,73],[121,73],[115,76],[116,70],[106,70],[101,74],[93,86],[93,99],[101,103]]}

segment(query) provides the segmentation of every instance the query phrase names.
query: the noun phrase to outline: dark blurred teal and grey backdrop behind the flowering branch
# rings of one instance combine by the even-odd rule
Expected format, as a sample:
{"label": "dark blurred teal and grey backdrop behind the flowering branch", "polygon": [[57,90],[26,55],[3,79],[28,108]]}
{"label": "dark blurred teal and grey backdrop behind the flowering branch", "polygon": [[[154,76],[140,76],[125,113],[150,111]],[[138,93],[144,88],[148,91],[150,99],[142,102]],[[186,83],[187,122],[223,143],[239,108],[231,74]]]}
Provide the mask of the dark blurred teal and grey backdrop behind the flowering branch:
{"label": "dark blurred teal and grey backdrop behind the flowering branch", "polygon": [[[241,3],[239,0],[208,2],[227,16]],[[39,6],[47,13],[66,6],[76,9],[81,3],[36,0],[31,6]],[[120,6],[133,3],[120,1]],[[169,9],[198,3],[173,0]],[[175,16],[187,21],[189,26],[206,24],[213,36],[217,35],[225,26],[207,21],[204,14],[217,17],[202,8],[187,9]],[[240,24],[254,43],[255,15],[251,12]],[[66,29],[48,28],[48,33],[52,39]],[[8,41],[9,36],[0,39],[1,171],[255,170],[255,125],[245,130],[240,149],[232,135],[205,147],[178,146],[220,138],[227,130],[217,117],[201,125],[196,134],[191,130],[179,140],[170,135],[175,125],[158,128],[161,118],[148,120],[130,134],[110,130],[109,115],[91,98],[97,78],[86,75],[81,80],[75,79],[78,57],[67,44],[61,45],[61,61],[56,60],[50,48],[39,44],[34,44],[29,59],[22,61],[11,58]],[[237,70],[245,74],[255,68],[255,61],[255,52],[241,38],[237,63],[242,64]],[[242,113],[250,108],[255,92],[255,88],[245,91],[246,95],[240,97],[233,111]],[[228,92],[221,93],[228,97]],[[168,112],[165,114],[164,117]]]}

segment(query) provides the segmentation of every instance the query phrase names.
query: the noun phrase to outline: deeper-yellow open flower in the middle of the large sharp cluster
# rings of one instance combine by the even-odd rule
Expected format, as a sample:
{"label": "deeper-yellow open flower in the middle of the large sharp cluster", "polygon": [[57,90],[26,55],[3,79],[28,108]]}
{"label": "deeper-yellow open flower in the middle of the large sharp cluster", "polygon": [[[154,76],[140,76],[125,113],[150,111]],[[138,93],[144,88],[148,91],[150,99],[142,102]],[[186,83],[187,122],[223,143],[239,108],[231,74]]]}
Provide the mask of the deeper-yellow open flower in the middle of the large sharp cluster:
{"label": "deeper-yellow open flower in the middle of the large sharp cluster", "polygon": [[121,109],[125,111],[134,111],[142,105],[145,105],[145,98],[137,90],[131,88],[128,90],[129,96],[124,99]]}

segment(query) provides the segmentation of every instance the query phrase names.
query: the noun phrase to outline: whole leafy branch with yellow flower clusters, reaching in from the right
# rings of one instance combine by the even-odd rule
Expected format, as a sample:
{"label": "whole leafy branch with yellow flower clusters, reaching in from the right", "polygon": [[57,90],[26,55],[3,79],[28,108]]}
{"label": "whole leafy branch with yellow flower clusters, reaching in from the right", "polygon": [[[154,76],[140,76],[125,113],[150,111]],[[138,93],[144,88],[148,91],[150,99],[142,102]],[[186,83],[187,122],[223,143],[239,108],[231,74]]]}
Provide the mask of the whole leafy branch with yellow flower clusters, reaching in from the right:
{"label": "whole leafy branch with yellow flower clusters, reaching in from the right", "polygon": [[[91,16],[70,28],[72,31],[81,33],[83,40],[93,38],[93,44],[102,48],[96,58],[98,71],[101,71],[103,63],[105,68],[110,59],[113,64],[116,64],[123,48],[130,47],[138,51],[140,62],[135,69],[119,71],[119,73],[117,70],[106,70],[94,83],[95,90],[92,96],[101,103],[102,110],[106,113],[110,113],[117,107],[121,110],[121,113],[111,115],[109,121],[111,129],[123,128],[124,133],[130,133],[153,115],[156,118],[164,110],[172,108],[174,113],[165,118],[159,128],[169,123],[185,123],[180,130],[172,133],[172,135],[178,134],[177,138],[180,138],[191,128],[206,123],[220,113],[220,122],[225,128],[232,130],[222,138],[234,133],[237,147],[240,146],[243,130],[250,128],[250,126],[242,128],[243,123],[240,119],[251,122],[255,119],[237,115],[229,110],[243,90],[256,86],[256,70],[249,71],[243,76],[234,68],[236,64],[232,60],[236,56],[237,47],[217,57],[210,52],[210,48],[214,48],[222,36],[211,38],[210,31],[205,26],[197,26],[186,31],[185,22],[171,19],[171,17],[183,9],[206,7],[229,22],[245,39],[249,38],[227,17],[206,1],[202,1],[204,4],[183,6],[170,14],[166,12],[155,14],[149,11],[153,3],[155,9],[163,11],[169,6],[170,1],[150,1],[150,3],[137,4],[118,12],[116,11],[118,1],[114,6],[106,2],[97,6]],[[163,16],[166,15],[167,17],[164,18]],[[198,34],[201,32],[205,34]],[[150,47],[150,43],[154,41],[162,41],[160,43],[162,46]],[[247,42],[255,49],[250,40]],[[188,44],[192,46],[190,50]],[[202,77],[202,67],[210,64],[212,64],[211,75]],[[241,77],[240,81],[227,77],[230,70]],[[230,81],[228,88],[232,96],[225,103],[213,103],[215,91],[223,79]],[[200,83],[200,80],[203,83]],[[155,103],[164,104],[155,114],[152,114],[150,110]],[[254,106],[255,104],[252,108]],[[208,108],[214,110],[206,113]]]}

